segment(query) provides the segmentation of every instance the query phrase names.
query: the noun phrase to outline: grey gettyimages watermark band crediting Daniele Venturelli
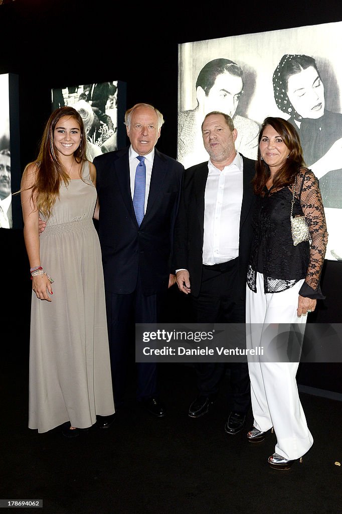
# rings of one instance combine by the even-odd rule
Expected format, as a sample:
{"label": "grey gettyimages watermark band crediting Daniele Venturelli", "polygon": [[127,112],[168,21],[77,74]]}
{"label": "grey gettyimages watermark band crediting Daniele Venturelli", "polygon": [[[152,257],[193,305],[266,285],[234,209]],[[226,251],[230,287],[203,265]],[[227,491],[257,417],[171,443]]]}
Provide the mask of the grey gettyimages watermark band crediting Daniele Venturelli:
{"label": "grey gettyimages watermark band crediting Daniele Venturelli", "polygon": [[136,362],[257,361],[342,362],[342,324],[136,324]]}

